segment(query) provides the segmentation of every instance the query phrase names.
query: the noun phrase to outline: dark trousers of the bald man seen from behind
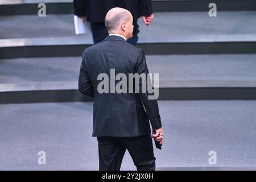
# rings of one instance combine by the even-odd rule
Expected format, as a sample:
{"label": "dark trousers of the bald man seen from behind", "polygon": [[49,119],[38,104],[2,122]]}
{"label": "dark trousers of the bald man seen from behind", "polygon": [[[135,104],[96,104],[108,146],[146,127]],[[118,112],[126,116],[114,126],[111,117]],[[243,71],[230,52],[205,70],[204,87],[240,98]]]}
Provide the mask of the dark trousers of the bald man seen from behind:
{"label": "dark trousers of the bald man seen from behind", "polygon": [[155,156],[150,135],[97,139],[100,171],[119,171],[126,149],[138,171],[155,171]]}

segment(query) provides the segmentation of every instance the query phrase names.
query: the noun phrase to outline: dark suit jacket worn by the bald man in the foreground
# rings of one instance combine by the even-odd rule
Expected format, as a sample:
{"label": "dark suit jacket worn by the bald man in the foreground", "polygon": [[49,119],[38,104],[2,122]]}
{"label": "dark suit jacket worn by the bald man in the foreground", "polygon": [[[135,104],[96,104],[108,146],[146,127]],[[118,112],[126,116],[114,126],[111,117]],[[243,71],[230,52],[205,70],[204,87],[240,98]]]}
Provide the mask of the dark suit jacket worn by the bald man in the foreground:
{"label": "dark suit jacket worn by the bald man in the foreground", "polygon": [[148,92],[98,93],[97,86],[102,80],[97,77],[106,73],[110,79],[110,69],[115,69],[115,75],[125,73],[128,85],[129,73],[148,73],[144,51],[119,36],[108,36],[82,54],[79,91],[94,97],[93,137],[147,135],[151,133],[148,119],[153,129],[162,127],[158,103],[148,100]]}

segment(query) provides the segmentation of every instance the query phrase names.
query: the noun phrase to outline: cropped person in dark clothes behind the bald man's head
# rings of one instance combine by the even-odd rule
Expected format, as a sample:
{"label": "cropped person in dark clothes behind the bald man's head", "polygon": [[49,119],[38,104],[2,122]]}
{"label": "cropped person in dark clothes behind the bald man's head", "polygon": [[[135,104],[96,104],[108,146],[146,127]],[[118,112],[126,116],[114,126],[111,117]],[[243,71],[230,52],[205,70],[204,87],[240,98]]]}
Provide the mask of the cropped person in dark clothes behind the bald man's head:
{"label": "cropped person in dark clothes behind the bald man's head", "polygon": [[73,0],[75,15],[83,22],[90,22],[94,44],[101,42],[108,36],[104,20],[106,13],[113,7],[122,7],[129,10],[134,18],[133,38],[127,40],[134,46],[138,42],[139,26],[137,19],[142,16],[144,24],[150,25],[154,14],[152,13],[151,0]]}

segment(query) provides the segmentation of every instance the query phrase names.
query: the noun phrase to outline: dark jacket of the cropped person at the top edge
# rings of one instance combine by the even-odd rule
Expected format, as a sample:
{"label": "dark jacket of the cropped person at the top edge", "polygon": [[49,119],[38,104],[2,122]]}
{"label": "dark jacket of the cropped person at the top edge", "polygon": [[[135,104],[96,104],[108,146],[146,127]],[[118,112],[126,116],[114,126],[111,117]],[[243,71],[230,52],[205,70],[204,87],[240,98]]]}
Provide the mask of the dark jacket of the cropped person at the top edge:
{"label": "dark jacket of the cropped person at the top edge", "polygon": [[88,22],[104,22],[106,13],[113,7],[127,9],[133,19],[152,14],[151,0],[73,0],[75,15],[84,16]]}

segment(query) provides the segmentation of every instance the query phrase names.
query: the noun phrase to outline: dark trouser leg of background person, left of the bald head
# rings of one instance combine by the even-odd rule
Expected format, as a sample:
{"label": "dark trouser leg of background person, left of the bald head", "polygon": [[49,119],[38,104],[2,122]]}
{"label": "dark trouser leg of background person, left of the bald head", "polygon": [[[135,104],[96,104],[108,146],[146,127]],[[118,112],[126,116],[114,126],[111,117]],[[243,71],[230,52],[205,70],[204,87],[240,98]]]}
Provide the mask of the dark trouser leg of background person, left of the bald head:
{"label": "dark trouser leg of background person, left of the bald head", "polygon": [[90,30],[92,30],[94,44],[102,42],[109,35],[104,22],[90,22]]}

